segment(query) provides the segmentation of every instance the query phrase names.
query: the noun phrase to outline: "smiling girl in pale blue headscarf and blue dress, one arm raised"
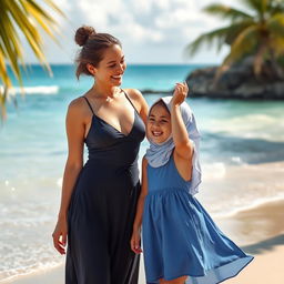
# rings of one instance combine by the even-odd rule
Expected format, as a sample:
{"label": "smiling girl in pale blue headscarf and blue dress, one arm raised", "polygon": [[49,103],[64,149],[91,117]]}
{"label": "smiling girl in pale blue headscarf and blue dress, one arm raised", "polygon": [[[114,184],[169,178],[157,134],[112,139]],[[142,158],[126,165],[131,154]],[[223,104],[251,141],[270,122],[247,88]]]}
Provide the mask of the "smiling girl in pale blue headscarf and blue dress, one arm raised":
{"label": "smiling girl in pale blue headscarf and blue dress, one arm raised", "polygon": [[131,248],[142,252],[143,214],[148,283],[215,284],[235,276],[253,260],[219,230],[193,196],[201,183],[200,134],[184,102],[186,93],[187,85],[178,83],[173,98],[152,105],[146,122],[150,149],[142,162]]}

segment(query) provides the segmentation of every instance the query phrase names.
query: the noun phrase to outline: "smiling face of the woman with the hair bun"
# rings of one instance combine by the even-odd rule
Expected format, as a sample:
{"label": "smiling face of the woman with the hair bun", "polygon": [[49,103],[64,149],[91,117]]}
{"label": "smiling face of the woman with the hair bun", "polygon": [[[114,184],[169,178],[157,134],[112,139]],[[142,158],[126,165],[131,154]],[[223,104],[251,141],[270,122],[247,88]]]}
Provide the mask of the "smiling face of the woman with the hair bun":
{"label": "smiling face of the woman with the hair bun", "polygon": [[118,87],[122,83],[122,77],[126,69],[124,54],[120,45],[114,44],[104,51],[103,59],[94,68],[94,78],[97,83]]}

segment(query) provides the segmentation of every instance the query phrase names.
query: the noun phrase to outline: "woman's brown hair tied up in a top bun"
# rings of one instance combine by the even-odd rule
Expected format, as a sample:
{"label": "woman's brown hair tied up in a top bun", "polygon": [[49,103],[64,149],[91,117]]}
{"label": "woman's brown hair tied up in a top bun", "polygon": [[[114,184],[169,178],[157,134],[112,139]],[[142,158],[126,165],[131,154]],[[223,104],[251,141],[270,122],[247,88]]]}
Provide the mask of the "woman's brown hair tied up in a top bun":
{"label": "woman's brown hair tied up in a top bun", "polygon": [[103,59],[105,49],[114,44],[121,47],[121,42],[109,33],[97,33],[92,27],[83,26],[79,28],[74,37],[75,43],[82,47],[79,51],[75,62],[78,64],[75,75],[79,79],[81,74],[91,75],[87,64],[91,63],[98,67]]}

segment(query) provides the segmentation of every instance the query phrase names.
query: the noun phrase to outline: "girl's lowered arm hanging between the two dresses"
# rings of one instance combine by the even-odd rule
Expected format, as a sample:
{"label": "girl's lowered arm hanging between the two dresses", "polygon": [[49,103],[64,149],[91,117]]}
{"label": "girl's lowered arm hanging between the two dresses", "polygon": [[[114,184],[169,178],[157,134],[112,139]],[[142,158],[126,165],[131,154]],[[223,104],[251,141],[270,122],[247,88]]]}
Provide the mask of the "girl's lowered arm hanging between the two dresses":
{"label": "girl's lowered arm hanging between the two dresses", "polygon": [[143,210],[144,210],[144,201],[148,194],[148,178],[146,178],[146,165],[148,161],[145,158],[142,160],[142,186],[141,186],[141,193],[138,200],[136,205],[136,215],[133,223],[133,233],[130,241],[131,250],[134,253],[141,253],[141,225],[142,225],[142,217],[143,217]]}

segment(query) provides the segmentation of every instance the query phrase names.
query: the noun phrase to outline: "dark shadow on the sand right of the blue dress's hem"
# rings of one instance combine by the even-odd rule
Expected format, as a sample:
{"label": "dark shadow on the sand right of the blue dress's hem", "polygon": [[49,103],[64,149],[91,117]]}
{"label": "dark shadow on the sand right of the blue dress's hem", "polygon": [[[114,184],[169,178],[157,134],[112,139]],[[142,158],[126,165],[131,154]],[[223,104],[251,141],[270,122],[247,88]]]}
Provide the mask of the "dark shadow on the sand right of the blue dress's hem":
{"label": "dark shadow on the sand right of the blue dress's hem", "polygon": [[275,237],[271,237],[268,240],[258,242],[253,245],[242,246],[242,250],[244,250],[248,254],[255,255],[255,254],[263,254],[268,251],[272,251],[277,245],[284,245],[284,234],[277,235]]}

